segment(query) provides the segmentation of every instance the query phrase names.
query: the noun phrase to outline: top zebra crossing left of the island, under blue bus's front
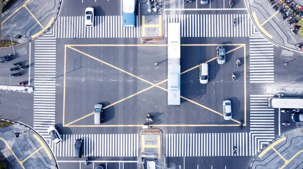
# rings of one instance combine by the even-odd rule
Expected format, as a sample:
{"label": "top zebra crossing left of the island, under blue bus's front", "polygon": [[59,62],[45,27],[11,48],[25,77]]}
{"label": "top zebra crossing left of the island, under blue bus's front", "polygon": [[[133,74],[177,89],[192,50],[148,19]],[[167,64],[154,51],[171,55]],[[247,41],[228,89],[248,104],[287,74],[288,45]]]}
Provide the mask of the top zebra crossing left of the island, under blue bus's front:
{"label": "top zebra crossing left of the island, under blue bus's front", "polygon": [[139,18],[135,28],[124,28],[122,16],[95,16],[94,26],[86,27],[84,16],[58,17],[52,27],[56,38],[139,38]]}

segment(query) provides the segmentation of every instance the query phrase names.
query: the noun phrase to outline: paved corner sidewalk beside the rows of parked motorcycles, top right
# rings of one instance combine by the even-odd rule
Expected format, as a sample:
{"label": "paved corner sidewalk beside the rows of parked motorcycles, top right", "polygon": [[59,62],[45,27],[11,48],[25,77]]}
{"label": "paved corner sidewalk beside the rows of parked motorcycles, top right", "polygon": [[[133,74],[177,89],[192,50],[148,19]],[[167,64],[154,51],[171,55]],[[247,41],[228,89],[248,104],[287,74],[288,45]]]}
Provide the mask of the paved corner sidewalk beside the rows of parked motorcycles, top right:
{"label": "paved corner sidewalk beside the rows of parked motorcycles, top right", "polygon": [[245,0],[244,2],[252,22],[267,40],[276,46],[303,53],[295,48],[295,44],[303,42],[302,37],[292,34],[290,28],[294,25],[288,25],[287,19],[282,21],[279,10],[275,11],[273,6],[265,0]]}

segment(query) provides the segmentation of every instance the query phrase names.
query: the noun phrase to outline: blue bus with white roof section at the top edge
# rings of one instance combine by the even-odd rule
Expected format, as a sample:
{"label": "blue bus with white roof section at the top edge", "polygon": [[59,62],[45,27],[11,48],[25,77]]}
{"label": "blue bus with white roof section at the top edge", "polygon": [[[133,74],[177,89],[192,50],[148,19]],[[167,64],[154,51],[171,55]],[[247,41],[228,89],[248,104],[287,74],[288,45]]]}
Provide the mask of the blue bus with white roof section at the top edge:
{"label": "blue bus with white roof section at the top edge", "polygon": [[122,3],[122,25],[125,28],[135,28],[135,0],[123,0]]}

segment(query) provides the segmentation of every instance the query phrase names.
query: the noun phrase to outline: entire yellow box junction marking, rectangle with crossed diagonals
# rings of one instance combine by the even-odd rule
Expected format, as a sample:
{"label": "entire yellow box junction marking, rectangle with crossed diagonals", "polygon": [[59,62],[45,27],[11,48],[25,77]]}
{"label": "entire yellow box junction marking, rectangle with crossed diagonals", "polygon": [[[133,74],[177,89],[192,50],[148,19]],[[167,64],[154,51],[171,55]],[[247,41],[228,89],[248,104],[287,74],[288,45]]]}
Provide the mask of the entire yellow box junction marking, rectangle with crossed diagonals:
{"label": "entire yellow box junction marking, rectangle with crossed diagonals", "polygon": [[[217,44],[183,44],[183,45],[181,45],[181,46],[216,46]],[[226,44],[227,46],[235,46],[235,45],[239,45],[238,47],[236,47],[236,48],[234,48],[234,49],[232,49],[232,50],[230,50],[230,51],[227,51],[226,52],[226,54],[228,54],[228,53],[230,53],[230,52],[233,52],[233,51],[235,51],[235,50],[237,50],[237,49],[240,49],[241,47],[244,47],[244,98],[246,98],[246,83],[245,83],[245,81],[246,81],[246,49],[245,49],[245,44]],[[65,124],[65,98],[66,98],[66,90],[65,90],[65,88],[66,88],[66,48],[68,47],[68,48],[70,48],[70,49],[72,49],[72,50],[75,50],[75,51],[77,51],[77,52],[79,52],[79,53],[81,53],[81,54],[83,54],[83,55],[86,55],[86,56],[88,56],[88,57],[90,57],[90,58],[92,58],[92,59],[95,59],[95,60],[97,60],[97,61],[99,61],[99,62],[102,62],[102,63],[104,63],[104,64],[106,64],[106,65],[108,65],[108,66],[111,66],[111,67],[113,67],[113,68],[115,68],[115,69],[118,69],[118,70],[120,70],[120,71],[122,71],[122,72],[124,72],[124,73],[126,73],[126,74],[129,74],[129,75],[131,75],[131,76],[133,76],[133,77],[136,77],[136,78],[138,78],[138,79],[140,79],[140,80],[142,80],[142,81],[144,81],[144,82],[147,82],[147,83],[149,83],[150,85],[152,85],[152,86],[150,86],[150,87],[148,87],[148,88],[146,88],[146,89],[144,89],[144,90],[141,90],[141,91],[139,91],[139,92],[137,92],[137,93],[135,93],[135,94],[133,94],[133,95],[130,95],[130,96],[128,96],[128,97],[126,97],[126,98],[124,98],[124,99],[121,99],[121,100],[119,100],[119,101],[117,101],[117,102],[115,102],[115,103],[113,103],[113,104],[111,104],[111,105],[109,105],[109,106],[107,106],[107,107],[104,107],[104,109],[107,109],[107,108],[109,108],[109,107],[111,107],[111,106],[114,106],[114,105],[116,105],[116,104],[118,104],[118,103],[120,103],[120,102],[123,102],[123,101],[125,101],[125,100],[127,100],[127,99],[129,99],[129,98],[132,98],[132,97],[134,97],[134,96],[136,96],[136,95],[138,95],[138,94],[140,94],[140,93],[142,93],[142,92],[145,92],[145,91],[147,91],[147,90],[149,90],[149,89],[151,89],[151,88],[154,88],[154,87],[157,87],[157,88],[159,88],[159,89],[162,89],[162,90],[164,90],[164,91],[166,91],[167,92],[167,89],[165,89],[165,88],[162,88],[162,87],[160,87],[159,85],[161,85],[162,83],[164,83],[164,82],[166,82],[167,81],[167,79],[165,79],[165,80],[163,80],[163,81],[161,81],[161,82],[159,82],[159,83],[157,83],[157,84],[155,84],[155,83],[152,83],[152,82],[150,82],[150,81],[147,81],[147,80],[145,80],[145,79],[143,79],[143,78],[141,78],[141,77],[138,77],[138,76],[136,76],[136,75],[134,75],[134,74],[132,74],[132,73],[129,73],[129,72],[127,72],[127,71],[125,71],[125,70],[123,70],[123,69],[121,69],[121,68],[119,68],[119,67],[116,67],[116,66],[114,66],[114,65],[112,65],[112,64],[110,64],[110,63],[107,63],[107,62],[105,62],[105,61],[103,61],[103,60],[100,60],[100,59],[98,59],[98,58],[95,58],[95,57],[93,57],[93,56],[91,56],[91,55],[89,55],[89,54],[87,54],[87,53],[84,53],[84,52],[82,52],[82,51],[80,51],[80,50],[78,50],[78,49],[75,49],[75,48],[73,48],[72,46],[167,46],[167,45],[142,45],[142,44],[132,44],[132,45],[114,45],[114,44],[105,44],[105,45],[103,45],[103,44],[93,44],[93,45],[65,45],[65,52],[64,52],[64,93],[63,93],[63,126],[64,127],[67,127],[67,126],[69,126],[69,127],[82,127],[82,126],[85,126],[85,127],[96,127],[96,126],[99,126],[99,127],[127,127],[127,126],[132,126],[132,127],[139,127],[139,126],[142,126],[142,125],[71,125],[71,124],[73,124],[73,123],[75,123],[75,122],[77,122],[77,121],[79,121],[79,120],[82,120],[82,119],[84,119],[84,118],[86,118],[86,117],[88,117],[88,116],[91,116],[91,115],[93,115],[93,113],[90,113],[90,114],[87,114],[87,115],[85,115],[85,116],[83,116],[83,117],[81,117],[81,118],[78,118],[78,119],[76,119],[76,120],[74,120],[74,121],[72,121],[72,122],[70,122],[70,123],[68,123],[68,124]],[[212,59],[210,59],[210,60],[208,60],[208,61],[206,61],[207,63],[208,62],[210,62],[210,61],[213,61],[213,60],[215,60],[215,59],[217,59],[217,57],[214,57],[214,58],[212,58]],[[192,68],[189,68],[189,69],[187,69],[187,70],[185,70],[185,71],[183,71],[183,72],[181,72],[181,74],[183,74],[183,73],[186,73],[186,72],[188,72],[188,71],[190,71],[190,70],[193,70],[193,69],[195,69],[195,68],[197,68],[197,67],[199,67],[199,65],[196,65],[196,66],[193,66]],[[216,113],[216,114],[218,114],[218,115],[220,115],[220,116],[223,116],[223,114],[221,114],[221,113],[219,113],[219,112],[217,112],[217,111],[215,111],[215,110],[212,110],[212,109],[210,109],[210,108],[208,108],[208,107],[206,107],[206,106],[203,106],[203,105],[201,105],[201,104],[199,104],[199,103],[196,103],[196,102],[194,102],[194,101],[192,101],[192,100],[190,100],[190,99],[187,99],[187,98],[185,98],[185,97],[183,97],[183,96],[180,96],[182,99],[185,99],[185,100],[187,100],[187,101],[189,101],[189,102],[191,102],[191,103],[193,103],[193,104],[195,104],[195,105],[198,105],[198,106],[200,106],[200,107],[202,107],[202,108],[205,108],[205,109],[207,109],[207,110],[209,110],[209,111],[211,111],[211,112],[214,112],[214,113]],[[240,123],[239,121],[237,121],[237,120],[235,120],[235,119],[232,119],[232,121],[234,121],[234,122],[236,122],[236,123]],[[183,125],[179,125],[179,124],[173,124],[173,125],[150,125],[150,126],[237,126],[238,124],[230,124],[230,125],[227,125],[227,124],[221,124],[221,125],[217,125],[217,124],[213,124],[213,125],[210,125],[210,124],[207,124],[207,125],[204,125],[204,124],[190,124],[190,125],[186,125],[186,124],[183,124]],[[246,99],[244,99],[244,126],[246,126]]]}

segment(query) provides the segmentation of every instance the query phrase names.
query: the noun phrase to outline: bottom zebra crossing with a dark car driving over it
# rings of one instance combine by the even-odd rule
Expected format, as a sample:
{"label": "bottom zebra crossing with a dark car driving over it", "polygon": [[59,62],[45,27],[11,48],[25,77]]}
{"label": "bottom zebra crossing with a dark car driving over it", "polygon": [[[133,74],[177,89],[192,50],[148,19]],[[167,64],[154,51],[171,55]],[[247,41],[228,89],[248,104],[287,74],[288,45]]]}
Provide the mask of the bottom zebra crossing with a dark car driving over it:
{"label": "bottom zebra crossing with a dark car driving over it", "polygon": [[63,142],[50,145],[56,156],[74,156],[74,141],[83,140],[83,156],[138,156],[138,134],[63,134]]}

